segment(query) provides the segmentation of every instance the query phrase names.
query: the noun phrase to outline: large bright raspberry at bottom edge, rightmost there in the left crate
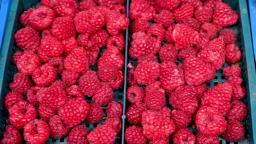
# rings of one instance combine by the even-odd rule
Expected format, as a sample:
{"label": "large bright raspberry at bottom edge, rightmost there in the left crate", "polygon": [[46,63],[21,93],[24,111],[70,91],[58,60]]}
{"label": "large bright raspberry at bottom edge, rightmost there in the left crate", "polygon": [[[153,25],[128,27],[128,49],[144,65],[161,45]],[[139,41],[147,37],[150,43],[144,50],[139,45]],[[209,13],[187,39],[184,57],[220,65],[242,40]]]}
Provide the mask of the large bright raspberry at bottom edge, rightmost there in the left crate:
{"label": "large bright raspberry at bottom edge, rightmost there in the left crate", "polygon": [[90,132],[87,138],[90,144],[114,144],[116,132],[110,125],[102,124]]}

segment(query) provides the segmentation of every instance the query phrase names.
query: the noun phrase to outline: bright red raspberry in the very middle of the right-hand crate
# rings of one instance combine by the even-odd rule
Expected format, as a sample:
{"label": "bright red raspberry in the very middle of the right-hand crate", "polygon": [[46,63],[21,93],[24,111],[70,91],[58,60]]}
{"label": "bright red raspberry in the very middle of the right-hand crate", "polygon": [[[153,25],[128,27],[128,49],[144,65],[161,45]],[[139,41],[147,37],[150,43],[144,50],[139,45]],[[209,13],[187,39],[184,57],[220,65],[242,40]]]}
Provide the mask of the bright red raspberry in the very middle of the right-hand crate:
{"label": "bright red raspberry in the very middle of the right-hand crate", "polygon": [[163,62],[160,65],[160,82],[167,90],[172,90],[184,84],[183,70],[173,62]]}

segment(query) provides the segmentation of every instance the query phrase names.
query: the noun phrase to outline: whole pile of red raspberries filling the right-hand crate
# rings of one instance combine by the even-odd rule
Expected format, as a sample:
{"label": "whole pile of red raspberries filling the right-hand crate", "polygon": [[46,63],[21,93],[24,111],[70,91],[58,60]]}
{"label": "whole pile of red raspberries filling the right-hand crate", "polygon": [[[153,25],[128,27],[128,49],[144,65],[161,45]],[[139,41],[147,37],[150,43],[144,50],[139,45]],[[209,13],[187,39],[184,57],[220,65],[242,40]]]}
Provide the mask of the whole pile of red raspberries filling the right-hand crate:
{"label": "whole pile of red raspberries filling the right-hand crate", "polygon": [[[133,62],[128,64],[125,141],[241,141],[240,122],[247,115],[238,66],[242,54],[235,33],[225,28],[238,22],[238,14],[222,0],[132,0],[129,19]],[[229,66],[222,69],[225,62]],[[227,81],[208,89],[206,83],[220,69]]]}

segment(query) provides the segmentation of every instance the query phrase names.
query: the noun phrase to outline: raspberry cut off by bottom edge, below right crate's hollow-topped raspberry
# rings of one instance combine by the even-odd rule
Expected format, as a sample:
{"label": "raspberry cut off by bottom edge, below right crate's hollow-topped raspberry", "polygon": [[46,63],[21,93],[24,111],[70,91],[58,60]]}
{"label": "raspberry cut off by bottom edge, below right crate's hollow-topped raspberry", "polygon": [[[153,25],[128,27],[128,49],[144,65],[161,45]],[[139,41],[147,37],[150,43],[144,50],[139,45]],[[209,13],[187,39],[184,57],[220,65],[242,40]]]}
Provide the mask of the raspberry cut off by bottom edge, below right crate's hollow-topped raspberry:
{"label": "raspberry cut off by bottom edge, below right crate's hollow-topped raspberry", "polygon": [[206,136],[202,132],[197,133],[197,144],[219,144],[220,140],[217,136]]}

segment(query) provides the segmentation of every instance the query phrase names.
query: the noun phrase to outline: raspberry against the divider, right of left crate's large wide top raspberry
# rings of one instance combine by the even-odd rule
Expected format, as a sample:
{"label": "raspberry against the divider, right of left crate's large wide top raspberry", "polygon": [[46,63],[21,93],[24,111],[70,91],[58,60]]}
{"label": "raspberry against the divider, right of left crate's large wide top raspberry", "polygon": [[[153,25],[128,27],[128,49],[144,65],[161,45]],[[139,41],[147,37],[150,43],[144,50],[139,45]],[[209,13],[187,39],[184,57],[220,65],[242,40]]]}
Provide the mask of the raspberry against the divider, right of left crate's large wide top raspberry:
{"label": "raspberry against the divider, right of left crate's large wide top raspberry", "polygon": [[122,14],[110,11],[106,16],[106,26],[108,33],[116,36],[119,31],[127,29],[129,26],[129,19]]}

